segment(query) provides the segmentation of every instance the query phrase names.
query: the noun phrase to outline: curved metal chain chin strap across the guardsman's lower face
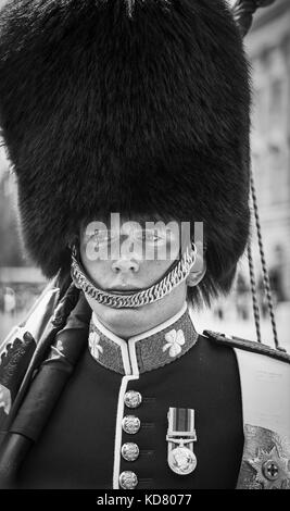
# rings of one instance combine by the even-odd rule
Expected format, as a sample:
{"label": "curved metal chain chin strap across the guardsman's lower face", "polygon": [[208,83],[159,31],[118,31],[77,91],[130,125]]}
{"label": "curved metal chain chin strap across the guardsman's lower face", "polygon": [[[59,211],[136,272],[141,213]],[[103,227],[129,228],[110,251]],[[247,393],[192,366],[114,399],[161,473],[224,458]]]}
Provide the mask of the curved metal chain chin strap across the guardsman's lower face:
{"label": "curved metal chain chin strap across the guardsman's lower face", "polygon": [[114,309],[138,308],[161,300],[172,292],[173,289],[188,277],[196,259],[197,247],[192,242],[191,247],[187,248],[176,266],[161,282],[141,291],[133,292],[131,295],[115,295],[96,287],[86,275],[75,253],[72,253],[71,273],[74,284],[99,303]]}

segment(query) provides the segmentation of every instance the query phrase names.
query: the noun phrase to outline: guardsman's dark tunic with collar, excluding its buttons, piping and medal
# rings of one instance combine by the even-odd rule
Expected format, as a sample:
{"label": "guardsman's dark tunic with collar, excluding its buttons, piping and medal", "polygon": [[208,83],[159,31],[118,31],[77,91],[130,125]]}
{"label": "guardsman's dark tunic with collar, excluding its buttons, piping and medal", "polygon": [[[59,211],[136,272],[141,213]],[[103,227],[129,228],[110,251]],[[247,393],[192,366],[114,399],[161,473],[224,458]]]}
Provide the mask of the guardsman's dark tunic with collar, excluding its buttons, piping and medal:
{"label": "guardsman's dark tunic with collar, excluding its buttons, piping and medal", "polygon": [[[25,459],[17,487],[110,489],[117,487],[123,471],[137,475],[138,489],[236,487],[243,427],[235,352],[198,336],[188,311],[164,325],[144,335],[126,354],[126,341],[121,347],[114,336],[92,324],[90,339],[97,342],[90,342],[80,357],[41,437]],[[185,344],[178,347],[177,339],[171,350],[173,345],[165,336],[180,331]],[[135,410],[123,406],[123,395],[130,389],[142,396]],[[171,407],[196,411],[198,465],[189,475],[177,475],[167,464]],[[122,429],[125,415],[140,419],[138,433]],[[129,462],[119,450],[131,441],[140,454]]]}

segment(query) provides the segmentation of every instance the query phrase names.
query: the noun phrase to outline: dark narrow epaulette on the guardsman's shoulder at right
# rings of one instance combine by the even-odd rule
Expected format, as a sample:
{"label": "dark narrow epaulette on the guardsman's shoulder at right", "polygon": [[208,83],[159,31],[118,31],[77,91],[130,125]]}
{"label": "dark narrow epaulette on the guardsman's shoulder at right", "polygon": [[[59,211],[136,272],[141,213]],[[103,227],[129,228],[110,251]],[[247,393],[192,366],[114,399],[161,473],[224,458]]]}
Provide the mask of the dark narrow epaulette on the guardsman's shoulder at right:
{"label": "dark narrow epaulette on the guardsman's shoulder at right", "polygon": [[290,363],[290,354],[287,353],[283,348],[274,349],[262,342],[242,339],[241,337],[226,337],[225,334],[219,334],[212,331],[203,331],[203,335],[222,346],[231,346],[232,348],[239,348],[245,351],[265,354],[273,359],[282,360],[283,362]]}

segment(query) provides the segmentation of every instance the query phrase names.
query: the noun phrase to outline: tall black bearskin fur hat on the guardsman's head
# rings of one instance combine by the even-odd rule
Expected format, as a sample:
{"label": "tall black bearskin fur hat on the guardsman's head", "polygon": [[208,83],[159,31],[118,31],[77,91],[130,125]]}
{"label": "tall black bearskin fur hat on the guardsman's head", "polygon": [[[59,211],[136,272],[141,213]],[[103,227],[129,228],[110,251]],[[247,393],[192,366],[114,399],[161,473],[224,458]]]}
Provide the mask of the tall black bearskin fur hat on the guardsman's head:
{"label": "tall black bearskin fur hat on the guardsman's head", "polygon": [[225,0],[12,0],[0,124],[23,235],[51,277],[81,221],[203,221],[200,290],[227,291],[249,235],[248,64]]}

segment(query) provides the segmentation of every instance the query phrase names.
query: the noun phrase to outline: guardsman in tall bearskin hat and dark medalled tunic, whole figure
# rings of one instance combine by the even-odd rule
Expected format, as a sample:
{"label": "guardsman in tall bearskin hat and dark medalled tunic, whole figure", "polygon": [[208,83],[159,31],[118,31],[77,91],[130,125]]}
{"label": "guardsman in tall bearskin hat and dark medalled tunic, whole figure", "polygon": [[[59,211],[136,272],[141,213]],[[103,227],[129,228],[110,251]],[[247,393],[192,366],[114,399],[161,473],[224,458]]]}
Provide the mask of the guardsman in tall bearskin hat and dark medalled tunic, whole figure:
{"label": "guardsman in tall bearskin hat and dark medalled tunic, whole figure", "polygon": [[51,279],[1,348],[0,487],[289,488],[289,356],[194,326],[249,238],[249,68],[227,3],[12,0],[0,16],[0,122]]}

